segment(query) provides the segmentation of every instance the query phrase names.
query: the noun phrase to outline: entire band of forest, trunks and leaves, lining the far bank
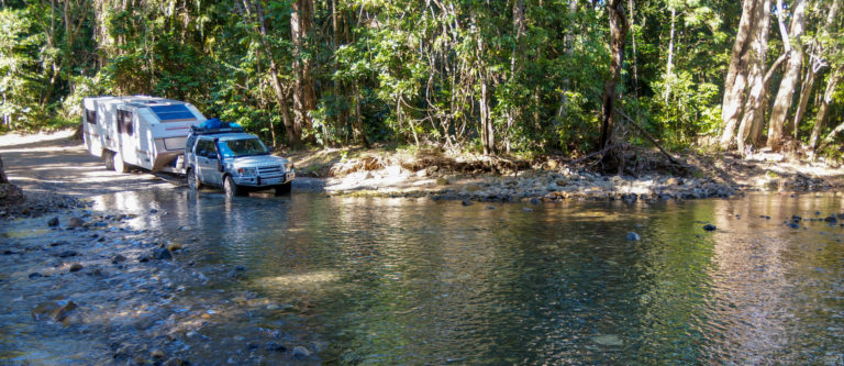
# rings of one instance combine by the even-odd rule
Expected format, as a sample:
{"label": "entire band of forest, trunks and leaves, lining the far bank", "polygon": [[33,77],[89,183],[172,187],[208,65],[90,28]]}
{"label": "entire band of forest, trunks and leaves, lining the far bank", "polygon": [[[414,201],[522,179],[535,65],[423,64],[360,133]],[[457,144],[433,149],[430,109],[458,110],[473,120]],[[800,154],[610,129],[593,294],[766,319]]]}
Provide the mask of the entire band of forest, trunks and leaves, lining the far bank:
{"label": "entire band of forest, trunks and leaves, lining the far bank", "polygon": [[2,131],[196,104],[274,145],[842,158],[842,0],[0,0]]}

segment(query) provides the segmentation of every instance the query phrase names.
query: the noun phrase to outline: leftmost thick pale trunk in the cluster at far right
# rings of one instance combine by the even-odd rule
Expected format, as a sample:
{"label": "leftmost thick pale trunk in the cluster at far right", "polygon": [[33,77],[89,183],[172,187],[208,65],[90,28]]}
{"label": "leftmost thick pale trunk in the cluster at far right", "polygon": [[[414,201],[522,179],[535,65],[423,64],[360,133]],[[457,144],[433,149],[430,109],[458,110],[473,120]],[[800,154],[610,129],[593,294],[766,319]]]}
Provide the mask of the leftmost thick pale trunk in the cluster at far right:
{"label": "leftmost thick pale trunk in the cluster at far right", "polygon": [[751,46],[752,34],[756,27],[756,7],[767,0],[744,0],[742,3],[742,18],[738,21],[738,33],[733,43],[730,68],[724,79],[724,99],[721,103],[721,122],[724,130],[721,134],[720,145],[730,148],[735,133],[735,126],[742,117],[744,93],[747,82],[747,53]]}

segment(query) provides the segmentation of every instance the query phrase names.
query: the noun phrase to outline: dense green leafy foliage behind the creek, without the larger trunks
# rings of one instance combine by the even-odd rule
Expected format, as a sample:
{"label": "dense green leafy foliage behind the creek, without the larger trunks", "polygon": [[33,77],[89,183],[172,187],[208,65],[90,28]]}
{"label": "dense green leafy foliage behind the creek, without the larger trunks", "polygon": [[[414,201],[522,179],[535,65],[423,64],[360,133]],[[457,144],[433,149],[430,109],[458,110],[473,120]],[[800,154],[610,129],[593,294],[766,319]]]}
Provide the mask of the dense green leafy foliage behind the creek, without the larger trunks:
{"label": "dense green leafy foliage behind the creek, without the larger trunks", "polygon": [[[311,144],[419,141],[479,152],[488,108],[499,151],[597,148],[610,77],[602,2],[311,0],[310,31],[297,44],[291,15],[304,0],[67,1],[68,14],[49,2],[0,11],[2,129],[71,123],[88,96],[145,93],[188,100],[208,117],[284,142],[282,117],[298,112],[293,91],[302,75],[295,65],[308,62],[316,99],[300,111],[308,117],[300,127]],[[246,3],[260,5],[264,29]],[[618,106],[669,147],[718,133],[741,2],[632,3]],[[841,32],[818,42],[830,68],[844,59]],[[647,144],[634,129],[620,129]]]}

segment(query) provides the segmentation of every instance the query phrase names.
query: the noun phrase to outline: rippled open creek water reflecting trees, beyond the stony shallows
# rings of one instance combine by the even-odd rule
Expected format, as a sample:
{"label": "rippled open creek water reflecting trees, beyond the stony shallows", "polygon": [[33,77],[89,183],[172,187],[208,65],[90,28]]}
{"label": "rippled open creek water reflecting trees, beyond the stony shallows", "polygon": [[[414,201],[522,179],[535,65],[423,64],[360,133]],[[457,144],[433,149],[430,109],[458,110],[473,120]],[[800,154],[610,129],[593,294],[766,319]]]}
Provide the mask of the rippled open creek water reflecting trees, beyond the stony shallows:
{"label": "rippled open creek water reflecting trees, beyond the stony shallows", "polygon": [[[180,260],[244,266],[225,286],[281,303],[262,317],[325,363],[844,364],[844,221],[822,220],[841,193],[463,206],[151,190],[95,209],[188,242]],[[792,229],[792,214],[813,220]]]}

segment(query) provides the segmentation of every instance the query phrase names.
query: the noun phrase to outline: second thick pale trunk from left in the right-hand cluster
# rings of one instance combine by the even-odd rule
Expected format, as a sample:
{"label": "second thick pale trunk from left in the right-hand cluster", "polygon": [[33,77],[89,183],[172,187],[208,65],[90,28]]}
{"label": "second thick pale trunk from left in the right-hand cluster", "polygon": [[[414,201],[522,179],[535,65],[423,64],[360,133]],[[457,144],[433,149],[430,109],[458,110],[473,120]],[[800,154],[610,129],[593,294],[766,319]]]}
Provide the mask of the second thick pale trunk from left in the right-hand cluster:
{"label": "second thick pale trunk from left in the right-hand cluster", "polygon": [[748,52],[748,84],[751,87],[747,101],[744,104],[744,115],[738,125],[738,133],[735,142],[738,152],[745,153],[744,145],[749,142],[752,145],[757,143],[755,131],[759,129],[764,121],[764,101],[766,98],[765,84],[765,56],[767,55],[768,34],[770,30],[770,1],[763,1],[762,7],[756,7],[755,18],[759,20],[758,25],[754,27],[751,38],[751,48]]}

